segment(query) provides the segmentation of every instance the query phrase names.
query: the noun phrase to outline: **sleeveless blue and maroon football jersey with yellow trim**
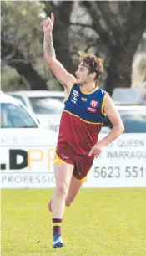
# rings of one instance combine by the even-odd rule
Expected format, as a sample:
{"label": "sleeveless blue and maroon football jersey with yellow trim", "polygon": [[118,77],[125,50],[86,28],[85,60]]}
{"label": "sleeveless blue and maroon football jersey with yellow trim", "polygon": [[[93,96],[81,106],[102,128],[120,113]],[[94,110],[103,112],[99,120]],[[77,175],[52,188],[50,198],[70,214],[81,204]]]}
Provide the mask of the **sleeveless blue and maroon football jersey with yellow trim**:
{"label": "sleeveless blue and maroon football jersey with yellow trim", "polygon": [[92,146],[98,141],[103,125],[105,96],[108,93],[97,87],[90,93],[82,91],[74,83],[60,121],[58,146],[71,148],[76,154],[88,156]]}

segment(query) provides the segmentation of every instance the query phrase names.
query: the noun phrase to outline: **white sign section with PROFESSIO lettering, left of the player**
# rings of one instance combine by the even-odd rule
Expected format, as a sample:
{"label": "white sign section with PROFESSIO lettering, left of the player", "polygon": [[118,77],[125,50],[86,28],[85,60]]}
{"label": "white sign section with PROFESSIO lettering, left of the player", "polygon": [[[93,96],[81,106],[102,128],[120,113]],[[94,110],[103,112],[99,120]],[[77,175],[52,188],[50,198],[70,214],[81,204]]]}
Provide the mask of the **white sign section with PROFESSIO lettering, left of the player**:
{"label": "white sign section with PROFESSIO lettering, left of the player", "polygon": [[55,147],[1,147],[1,187],[54,187]]}

